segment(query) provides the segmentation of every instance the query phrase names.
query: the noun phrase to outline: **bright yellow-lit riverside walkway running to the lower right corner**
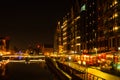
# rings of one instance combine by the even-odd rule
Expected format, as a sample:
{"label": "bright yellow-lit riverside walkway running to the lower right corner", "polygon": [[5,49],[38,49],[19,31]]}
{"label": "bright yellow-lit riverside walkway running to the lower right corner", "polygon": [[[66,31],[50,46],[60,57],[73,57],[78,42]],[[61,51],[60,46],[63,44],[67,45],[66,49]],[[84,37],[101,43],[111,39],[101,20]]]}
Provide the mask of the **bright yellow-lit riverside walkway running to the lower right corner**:
{"label": "bright yellow-lit riverside walkway running to the lower right corner", "polygon": [[76,74],[83,80],[120,80],[120,77],[114,76],[105,72],[102,72],[98,69],[86,66],[80,66],[74,62],[60,62],[64,66],[69,66],[78,71],[86,72],[85,74]]}

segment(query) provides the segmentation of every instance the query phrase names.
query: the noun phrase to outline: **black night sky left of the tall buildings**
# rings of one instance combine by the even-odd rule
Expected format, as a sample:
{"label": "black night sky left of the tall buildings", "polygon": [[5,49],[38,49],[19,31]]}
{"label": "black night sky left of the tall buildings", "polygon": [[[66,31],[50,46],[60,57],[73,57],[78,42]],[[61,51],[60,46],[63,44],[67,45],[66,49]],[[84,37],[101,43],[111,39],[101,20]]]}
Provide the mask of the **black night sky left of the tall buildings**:
{"label": "black night sky left of the tall buildings", "polygon": [[71,8],[70,0],[39,0],[0,3],[0,36],[10,36],[10,46],[53,43],[57,21]]}

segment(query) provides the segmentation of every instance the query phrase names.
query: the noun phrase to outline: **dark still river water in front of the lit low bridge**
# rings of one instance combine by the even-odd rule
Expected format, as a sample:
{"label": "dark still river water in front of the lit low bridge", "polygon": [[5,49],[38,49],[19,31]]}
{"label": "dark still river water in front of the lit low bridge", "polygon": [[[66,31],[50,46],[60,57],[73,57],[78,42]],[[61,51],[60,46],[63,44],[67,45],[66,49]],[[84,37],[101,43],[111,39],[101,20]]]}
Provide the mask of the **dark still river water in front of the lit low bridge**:
{"label": "dark still river water in front of the lit low bridge", "polygon": [[9,80],[58,80],[45,62],[10,62],[5,73]]}

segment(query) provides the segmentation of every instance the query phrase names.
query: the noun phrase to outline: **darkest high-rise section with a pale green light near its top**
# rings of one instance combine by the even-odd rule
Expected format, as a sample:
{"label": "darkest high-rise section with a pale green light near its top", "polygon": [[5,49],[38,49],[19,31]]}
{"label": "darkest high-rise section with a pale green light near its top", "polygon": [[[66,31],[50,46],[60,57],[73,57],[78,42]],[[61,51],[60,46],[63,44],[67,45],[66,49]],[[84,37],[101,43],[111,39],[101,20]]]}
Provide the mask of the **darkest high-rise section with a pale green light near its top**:
{"label": "darkest high-rise section with a pale green light near its top", "polygon": [[97,47],[97,0],[80,2],[80,43],[83,53],[94,52]]}

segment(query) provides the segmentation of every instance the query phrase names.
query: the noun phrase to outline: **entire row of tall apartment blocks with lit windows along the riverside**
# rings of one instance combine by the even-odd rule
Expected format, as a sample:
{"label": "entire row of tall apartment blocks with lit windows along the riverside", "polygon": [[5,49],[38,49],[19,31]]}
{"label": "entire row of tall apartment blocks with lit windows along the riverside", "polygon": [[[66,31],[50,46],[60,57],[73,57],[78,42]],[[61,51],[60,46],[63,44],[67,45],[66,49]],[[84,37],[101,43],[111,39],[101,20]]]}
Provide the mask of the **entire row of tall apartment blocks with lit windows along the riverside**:
{"label": "entire row of tall apartment blocks with lit windows along the riverside", "polygon": [[120,1],[73,0],[70,12],[58,22],[55,42],[63,53],[118,51]]}

